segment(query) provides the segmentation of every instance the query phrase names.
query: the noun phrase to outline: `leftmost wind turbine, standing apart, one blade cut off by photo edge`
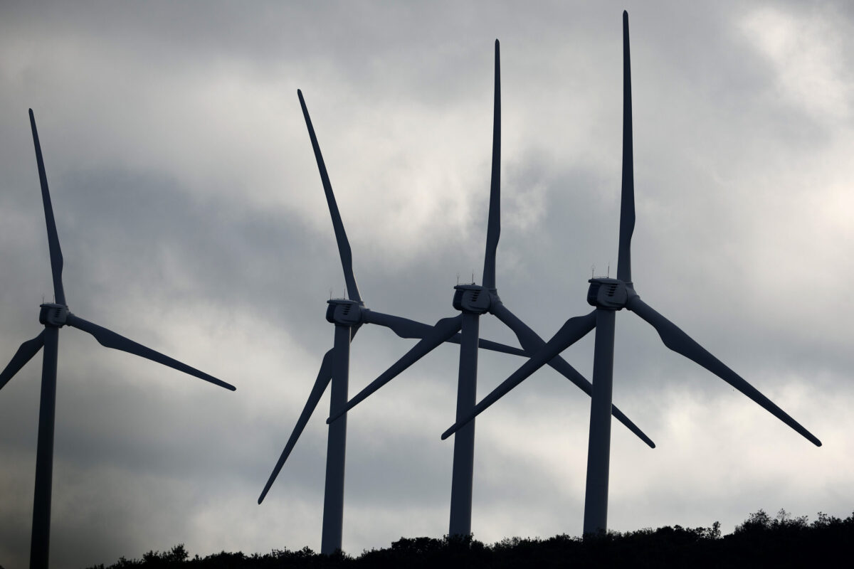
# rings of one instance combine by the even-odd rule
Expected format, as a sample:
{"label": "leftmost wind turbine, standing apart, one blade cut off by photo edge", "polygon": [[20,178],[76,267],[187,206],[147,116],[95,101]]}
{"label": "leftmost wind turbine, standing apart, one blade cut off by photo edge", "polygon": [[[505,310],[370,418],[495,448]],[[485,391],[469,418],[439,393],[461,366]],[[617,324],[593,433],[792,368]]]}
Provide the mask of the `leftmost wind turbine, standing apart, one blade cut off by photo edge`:
{"label": "leftmost wind turbine, standing apart, one blade cut off by photo edge", "polygon": [[32,340],[20,345],[12,361],[0,372],[0,389],[29,362],[33,356],[44,347],[42,363],[42,392],[38,409],[38,446],[36,450],[36,489],[32,506],[32,539],[30,542],[30,567],[46,568],[50,550],[50,494],[53,478],[53,442],[54,416],[56,411],[56,359],[59,349],[59,330],[66,324],[79,328],[95,337],[101,345],[114,350],[127,351],[137,356],[146,357],[157,363],[162,363],[185,374],[209,381],[214,385],[225,387],[232,392],[235,386],[218,380],[213,375],[205,374],[191,368],[171,357],[164,356],[144,345],[137,344],[120,336],[107,328],[103,328],[73,315],[68,311],[65,301],[65,290],[62,287],[62,252],[59,246],[59,236],[56,233],[53,207],[50,205],[48,178],[44,171],[42,148],[38,142],[36,119],[30,109],[30,125],[32,126],[32,143],[36,148],[36,163],[38,164],[38,179],[42,187],[44,202],[44,221],[48,229],[48,247],[50,248],[50,270],[53,273],[54,302],[41,305],[38,322],[44,324],[44,331]]}

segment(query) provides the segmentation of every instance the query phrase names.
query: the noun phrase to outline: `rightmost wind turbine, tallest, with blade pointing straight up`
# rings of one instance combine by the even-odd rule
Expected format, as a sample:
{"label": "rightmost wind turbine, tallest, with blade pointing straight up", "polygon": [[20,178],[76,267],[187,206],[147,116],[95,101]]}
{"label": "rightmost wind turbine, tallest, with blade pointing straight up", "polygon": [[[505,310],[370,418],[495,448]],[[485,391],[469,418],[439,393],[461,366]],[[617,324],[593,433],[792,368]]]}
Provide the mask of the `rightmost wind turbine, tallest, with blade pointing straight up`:
{"label": "rightmost wind turbine, tallest, with blade pointing straight up", "polygon": [[818,438],[795,421],[785,411],[755,387],[729,369],[717,357],[682,332],[673,322],[658,314],[635,292],[631,275],[631,238],[635,229],[635,175],[632,160],[632,98],[629,64],[629,14],[623,11],[623,184],[620,204],[620,235],[617,257],[617,278],[592,278],[589,280],[588,304],[595,310],[587,316],[570,318],[552,340],[535,357],[507,378],[492,393],[483,398],[471,413],[442,433],[447,438],[472,421],[489,405],[506,392],[518,386],[530,374],[541,368],[554,356],[587,334],[595,322],[593,397],[590,402],[590,434],[588,444],[587,488],[584,496],[584,534],[607,530],[608,514],[608,461],[611,454],[611,386],[614,363],[614,321],[617,311],[626,308],[652,325],[670,350],[680,353],[705,369],[716,374],[729,385],[744,393],[789,427],[821,446]]}

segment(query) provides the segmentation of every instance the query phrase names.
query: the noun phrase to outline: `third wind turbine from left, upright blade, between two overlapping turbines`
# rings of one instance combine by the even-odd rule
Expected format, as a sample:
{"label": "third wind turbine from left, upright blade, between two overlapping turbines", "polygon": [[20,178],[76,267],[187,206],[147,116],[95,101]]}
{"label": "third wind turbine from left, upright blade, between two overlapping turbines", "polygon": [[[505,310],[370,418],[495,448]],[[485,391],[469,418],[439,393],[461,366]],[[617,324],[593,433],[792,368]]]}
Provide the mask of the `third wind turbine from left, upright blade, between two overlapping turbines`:
{"label": "third wind turbine from left, upright blade, between two overlapping turbines", "polygon": [[[365,400],[371,393],[392,380],[397,374],[407,369],[421,357],[442,344],[443,341],[457,334],[462,328],[462,342],[459,345],[459,380],[457,388],[457,420],[471,413],[477,395],[477,339],[480,316],[493,314],[516,334],[519,343],[528,353],[535,353],[546,345],[534,330],[522,322],[518,316],[508,309],[498,296],[495,287],[495,253],[498,248],[500,235],[500,154],[501,154],[501,89],[500,89],[500,44],[495,40],[495,88],[494,88],[494,117],[492,142],[492,180],[489,191],[489,216],[486,239],[486,254],[483,262],[483,284],[474,283],[457,285],[453,295],[453,307],[462,314],[453,318],[444,318],[436,322],[435,328],[412,347],[401,359],[377,380],[371,382],[362,392],[349,401],[346,407],[330,414],[327,420],[331,426],[336,421],[344,421],[342,417],[349,409]],[[585,322],[586,331],[594,327],[594,320]],[[547,363],[576,384],[583,392],[591,394],[591,385],[576,369],[572,368],[557,354],[550,357]],[[617,417],[632,433],[635,433],[646,444],[654,448],[655,444],[646,436],[635,423],[613,407],[609,414]],[[339,418],[341,417],[341,418]],[[474,444],[475,425],[472,421],[459,429],[453,442],[453,477],[451,485],[451,514],[448,533],[452,536],[469,535],[471,533],[471,486],[474,473]]]}

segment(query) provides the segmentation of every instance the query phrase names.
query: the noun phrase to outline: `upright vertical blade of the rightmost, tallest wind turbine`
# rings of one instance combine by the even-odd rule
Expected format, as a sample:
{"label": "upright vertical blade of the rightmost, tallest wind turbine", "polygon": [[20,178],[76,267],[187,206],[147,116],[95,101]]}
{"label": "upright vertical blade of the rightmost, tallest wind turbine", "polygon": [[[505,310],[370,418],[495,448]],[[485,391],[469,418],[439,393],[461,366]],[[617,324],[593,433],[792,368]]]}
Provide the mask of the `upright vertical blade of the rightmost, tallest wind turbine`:
{"label": "upright vertical blade of the rightmost, tallest wind turbine", "polygon": [[632,73],[629,61],[629,13],[623,11],[623,189],[620,200],[620,249],[617,278],[632,282],[632,233],[635,231],[635,166],[632,158]]}

